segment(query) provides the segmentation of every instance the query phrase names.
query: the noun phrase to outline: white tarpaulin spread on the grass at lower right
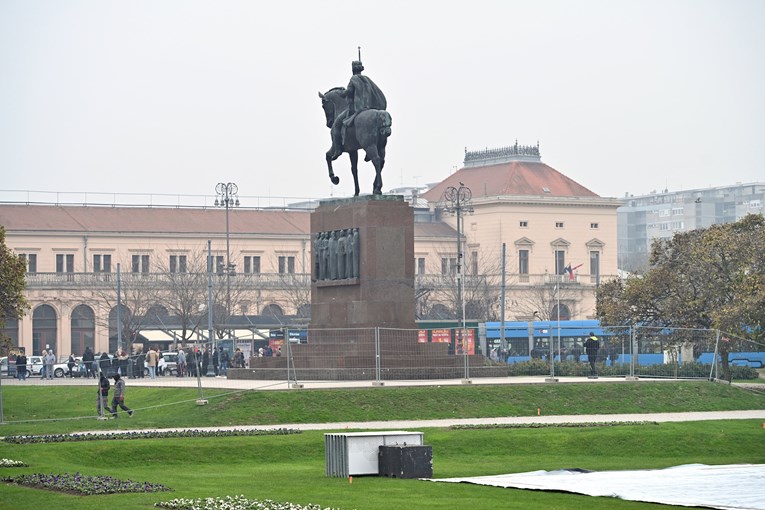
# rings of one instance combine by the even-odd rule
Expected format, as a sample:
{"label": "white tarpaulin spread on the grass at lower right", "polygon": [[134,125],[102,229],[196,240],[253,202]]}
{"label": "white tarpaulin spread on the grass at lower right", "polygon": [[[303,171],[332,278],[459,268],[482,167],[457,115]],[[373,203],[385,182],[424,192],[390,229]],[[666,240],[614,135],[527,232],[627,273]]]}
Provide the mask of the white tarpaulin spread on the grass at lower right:
{"label": "white tarpaulin spread on the grass at lower right", "polygon": [[765,464],[688,464],[635,471],[531,471],[432,481],[563,491],[665,505],[765,510]]}

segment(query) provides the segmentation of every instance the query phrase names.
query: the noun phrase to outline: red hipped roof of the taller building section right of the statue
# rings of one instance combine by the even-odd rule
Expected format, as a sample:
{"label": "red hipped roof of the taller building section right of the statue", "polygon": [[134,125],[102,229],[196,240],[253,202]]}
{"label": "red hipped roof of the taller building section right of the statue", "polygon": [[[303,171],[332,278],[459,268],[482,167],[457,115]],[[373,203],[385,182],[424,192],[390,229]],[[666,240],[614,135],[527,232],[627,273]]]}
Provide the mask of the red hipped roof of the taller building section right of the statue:
{"label": "red hipped roof of the taller building section right of the statue", "polygon": [[507,161],[465,167],[453,173],[422,196],[430,202],[442,200],[444,190],[464,184],[473,198],[494,196],[598,197],[554,168],[533,161]]}

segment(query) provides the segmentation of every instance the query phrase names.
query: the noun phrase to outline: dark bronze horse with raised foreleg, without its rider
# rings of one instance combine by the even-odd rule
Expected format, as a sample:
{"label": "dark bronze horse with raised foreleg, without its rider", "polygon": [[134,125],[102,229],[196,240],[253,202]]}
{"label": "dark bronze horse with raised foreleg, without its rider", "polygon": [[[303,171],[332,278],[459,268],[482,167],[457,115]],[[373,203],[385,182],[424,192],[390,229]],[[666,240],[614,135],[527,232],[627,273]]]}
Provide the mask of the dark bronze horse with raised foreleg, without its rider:
{"label": "dark bronze horse with raised foreleg, without its rider", "polygon": [[359,196],[358,150],[364,149],[364,161],[371,161],[375,167],[375,180],[372,193],[382,194],[382,169],[385,166],[385,145],[391,134],[391,116],[385,110],[362,110],[356,114],[353,123],[345,128],[343,121],[348,116],[348,100],[341,96],[345,89],[335,87],[326,93],[319,92],[321,107],[327,118],[327,127],[332,136],[332,147],[327,151],[327,169],[332,184],[338,184],[340,178],[332,170],[332,162],[343,152],[351,158],[351,173],[356,192]]}

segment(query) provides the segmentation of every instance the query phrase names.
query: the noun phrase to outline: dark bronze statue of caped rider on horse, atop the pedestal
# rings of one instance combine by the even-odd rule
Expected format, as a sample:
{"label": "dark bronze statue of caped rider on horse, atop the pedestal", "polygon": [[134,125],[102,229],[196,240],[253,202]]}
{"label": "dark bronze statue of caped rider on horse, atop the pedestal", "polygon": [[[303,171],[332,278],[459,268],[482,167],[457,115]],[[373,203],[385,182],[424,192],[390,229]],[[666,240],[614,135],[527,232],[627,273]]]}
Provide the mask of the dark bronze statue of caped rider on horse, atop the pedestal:
{"label": "dark bronze statue of caped rider on horse, atop the pedestal", "polygon": [[327,169],[332,184],[338,184],[340,178],[332,170],[332,162],[343,152],[351,159],[351,173],[355,193],[359,195],[358,151],[364,149],[364,161],[371,161],[375,167],[375,180],[372,193],[382,194],[382,169],[385,166],[385,145],[391,134],[391,116],[386,111],[388,106],[380,88],[363,76],[364,66],[361,60],[351,63],[353,76],[348,87],[335,87],[324,94],[319,92],[321,107],[330,129],[332,147],[327,151]]}

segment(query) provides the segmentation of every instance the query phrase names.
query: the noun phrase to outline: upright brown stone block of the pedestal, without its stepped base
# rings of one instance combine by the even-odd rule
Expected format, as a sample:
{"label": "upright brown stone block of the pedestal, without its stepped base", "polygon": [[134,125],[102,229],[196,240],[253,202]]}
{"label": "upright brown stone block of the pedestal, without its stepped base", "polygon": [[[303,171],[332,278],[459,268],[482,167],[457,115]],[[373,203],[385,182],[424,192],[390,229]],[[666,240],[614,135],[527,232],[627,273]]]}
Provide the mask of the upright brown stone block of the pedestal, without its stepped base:
{"label": "upright brown stone block of the pedestal, without its stepped base", "polygon": [[[332,258],[329,271],[317,236],[351,231],[357,260],[338,270]],[[311,214],[311,236],[311,328],[415,328],[414,212],[403,196],[323,200]]]}

